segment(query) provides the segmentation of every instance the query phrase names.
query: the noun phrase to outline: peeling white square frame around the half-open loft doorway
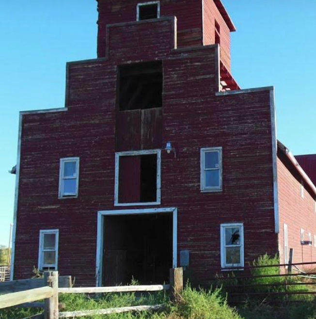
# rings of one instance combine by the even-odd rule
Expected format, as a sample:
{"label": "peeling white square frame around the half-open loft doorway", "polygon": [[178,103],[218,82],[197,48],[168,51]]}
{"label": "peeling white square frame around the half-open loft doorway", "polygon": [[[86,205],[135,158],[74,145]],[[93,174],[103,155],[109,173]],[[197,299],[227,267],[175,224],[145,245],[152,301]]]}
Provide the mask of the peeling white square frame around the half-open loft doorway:
{"label": "peeling white square frame around the half-open loft doorway", "polygon": [[[157,155],[157,193],[156,202],[148,203],[119,203],[119,164],[121,156],[141,156],[141,155]],[[115,153],[115,186],[114,186],[114,206],[148,206],[161,204],[161,150],[142,150],[142,151],[127,151]]]}

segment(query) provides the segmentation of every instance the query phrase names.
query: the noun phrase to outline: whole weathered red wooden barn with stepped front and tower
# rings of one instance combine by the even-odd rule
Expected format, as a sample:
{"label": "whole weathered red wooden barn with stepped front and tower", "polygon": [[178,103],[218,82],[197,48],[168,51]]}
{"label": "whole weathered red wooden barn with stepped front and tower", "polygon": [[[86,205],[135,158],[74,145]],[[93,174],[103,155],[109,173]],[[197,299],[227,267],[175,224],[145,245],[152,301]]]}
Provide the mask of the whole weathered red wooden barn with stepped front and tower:
{"label": "whole weathered red wooden barn with stepped front and tower", "polygon": [[207,284],[259,255],[316,259],[316,188],[240,89],[220,0],[98,0],[98,57],[65,107],[20,113],[12,278]]}

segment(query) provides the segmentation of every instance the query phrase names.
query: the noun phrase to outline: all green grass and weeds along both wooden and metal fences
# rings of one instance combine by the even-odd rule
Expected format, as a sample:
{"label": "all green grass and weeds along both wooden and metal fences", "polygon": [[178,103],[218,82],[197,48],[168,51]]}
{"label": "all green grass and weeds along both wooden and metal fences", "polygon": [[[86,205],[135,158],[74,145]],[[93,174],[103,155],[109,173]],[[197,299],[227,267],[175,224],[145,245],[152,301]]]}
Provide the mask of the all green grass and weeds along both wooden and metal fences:
{"label": "all green grass and weeds along both wooden and metal fences", "polygon": [[[277,256],[261,256],[255,262],[255,266],[279,264]],[[278,267],[253,269],[254,276],[279,274]],[[234,276],[234,274],[231,274]],[[291,277],[288,282],[297,282],[302,278]],[[272,278],[251,278],[246,284],[281,284],[284,277]],[[180,296],[179,303],[170,303],[170,298],[166,292],[158,293],[117,293],[102,294],[101,297],[89,297],[84,294],[60,295],[60,302],[66,308],[63,311],[107,309],[114,307],[165,304],[165,308],[160,312],[123,313],[106,316],[91,316],[87,319],[316,319],[316,297],[314,295],[273,296],[272,300],[282,303],[268,304],[266,296],[248,297],[237,309],[232,308],[227,303],[226,292],[230,286],[241,285],[237,278],[225,281],[219,278],[217,285],[220,288],[203,290],[193,289],[190,285],[184,289]],[[135,284],[135,283],[133,283]],[[223,286],[221,288],[222,285]],[[235,288],[240,290],[240,288]],[[287,286],[287,291],[316,290],[316,286]],[[253,292],[284,292],[283,286],[253,287]],[[271,300],[271,299],[270,299]],[[291,303],[298,302],[299,303]],[[0,319],[22,319],[34,314],[41,313],[42,309],[22,309],[9,308],[0,310]]]}

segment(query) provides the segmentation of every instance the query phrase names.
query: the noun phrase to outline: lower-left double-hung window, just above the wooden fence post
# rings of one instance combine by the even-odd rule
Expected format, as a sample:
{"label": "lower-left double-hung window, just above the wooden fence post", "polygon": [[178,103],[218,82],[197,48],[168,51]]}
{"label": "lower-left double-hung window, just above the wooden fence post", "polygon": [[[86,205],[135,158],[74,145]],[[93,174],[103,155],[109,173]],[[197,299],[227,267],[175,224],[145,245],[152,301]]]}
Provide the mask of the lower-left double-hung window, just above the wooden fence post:
{"label": "lower-left double-hung window, just above the wooden fence post", "polygon": [[40,230],[38,269],[58,268],[58,229]]}

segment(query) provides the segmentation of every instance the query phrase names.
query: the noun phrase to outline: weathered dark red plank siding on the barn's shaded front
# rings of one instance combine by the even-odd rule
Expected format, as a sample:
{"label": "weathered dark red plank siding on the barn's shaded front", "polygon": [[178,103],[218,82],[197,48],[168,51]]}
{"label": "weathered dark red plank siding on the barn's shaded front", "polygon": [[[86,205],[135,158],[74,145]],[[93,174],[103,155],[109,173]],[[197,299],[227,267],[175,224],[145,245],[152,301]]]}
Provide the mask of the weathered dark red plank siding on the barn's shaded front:
{"label": "weathered dark red plank siding on the barn's shaded front", "polygon": [[[117,66],[127,63],[162,61],[162,121],[153,129],[155,147],[162,148],[161,205],[155,207],[178,208],[177,249],[190,251],[190,277],[203,284],[220,271],[221,223],[244,223],[246,263],[282,249],[274,223],[270,89],[216,95],[218,46],[202,46],[202,6],[195,0],[161,1],[162,16],[176,13],[178,28],[174,17],[106,27],[135,20],[136,3],[99,0],[99,58],[67,65],[67,112],[23,115],[16,279],[30,277],[37,265],[39,230],[57,228],[60,273],[95,285],[97,211],[126,208],[114,207],[114,168],[116,142],[126,138],[122,126],[128,123],[116,111]],[[222,60],[229,68],[226,36]],[[184,48],[189,44],[199,46]],[[149,147],[134,133],[135,144],[119,143],[119,150]],[[167,142],[176,158],[163,150]],[[203,193],[200,149],[217,146],[223,149],[223,191]],[[58,199],[64,157],[80,158],[78,198]]]}

